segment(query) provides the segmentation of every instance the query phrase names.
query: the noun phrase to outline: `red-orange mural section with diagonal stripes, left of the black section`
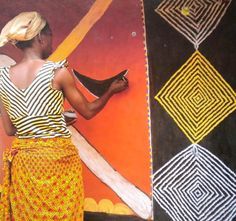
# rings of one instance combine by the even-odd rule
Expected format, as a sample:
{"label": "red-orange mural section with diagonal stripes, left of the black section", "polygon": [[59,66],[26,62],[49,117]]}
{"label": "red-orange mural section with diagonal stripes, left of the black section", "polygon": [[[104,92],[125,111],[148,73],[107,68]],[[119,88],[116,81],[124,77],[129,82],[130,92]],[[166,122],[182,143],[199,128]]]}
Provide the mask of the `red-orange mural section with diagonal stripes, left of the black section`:
{"label": "red-orange mural section with diagonal stripes, left of the black section", "polygon": [[[22,11],[36,10],[48,19],[56,48],[49,60],[67,58],[88,99],[100,96],[111,79],[127,76],[129,91],[114,97],[91,121],[78,116],[70,129],[85,165],[85,210],[149,218],[151,155],[141,2],[21,0],[3,3],[0,10],[1,27]],[[4,66],[20,60],[12,47],[0,49]],[[71,109],[67,102],[65,109]],[[10,145],[2,127],[0,133],[1,146]]]}

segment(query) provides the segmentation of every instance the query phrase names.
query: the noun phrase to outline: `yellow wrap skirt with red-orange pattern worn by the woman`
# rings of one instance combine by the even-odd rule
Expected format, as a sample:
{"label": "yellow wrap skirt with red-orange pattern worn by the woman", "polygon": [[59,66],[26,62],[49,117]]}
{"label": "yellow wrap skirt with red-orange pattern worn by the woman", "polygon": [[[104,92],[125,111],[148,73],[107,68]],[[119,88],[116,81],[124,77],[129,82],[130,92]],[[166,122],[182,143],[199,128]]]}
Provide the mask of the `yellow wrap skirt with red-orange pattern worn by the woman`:
{"label": "yellow wrap skirt with red-orange pattern worn by the woman", "polygon": [[2,221],[83,220],[81,161],[70,138],[16,138],[4,164]]}

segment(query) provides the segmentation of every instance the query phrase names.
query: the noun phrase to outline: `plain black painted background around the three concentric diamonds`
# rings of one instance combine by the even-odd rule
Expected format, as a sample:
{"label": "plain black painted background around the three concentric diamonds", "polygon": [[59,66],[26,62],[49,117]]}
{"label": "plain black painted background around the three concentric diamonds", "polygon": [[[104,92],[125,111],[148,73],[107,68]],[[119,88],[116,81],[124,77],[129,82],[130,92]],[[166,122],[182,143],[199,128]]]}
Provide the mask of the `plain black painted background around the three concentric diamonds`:
{"label": "plain black painted background around the three concentric diamonds", "polygon": [[[190,140],[154,99],[169,78],[195,52],[194,46],[169,25],[155,9],[160,0],[144,0],[148,49],[151,131],[154,172],[184,148]],[[221,76],[236,88],[236,1],[232,1],[216,29],[200,44],[199,51]],[[199,144],[236,171],[236,113],[231,113]],[[155,220],[171,218],[155,202]]]}

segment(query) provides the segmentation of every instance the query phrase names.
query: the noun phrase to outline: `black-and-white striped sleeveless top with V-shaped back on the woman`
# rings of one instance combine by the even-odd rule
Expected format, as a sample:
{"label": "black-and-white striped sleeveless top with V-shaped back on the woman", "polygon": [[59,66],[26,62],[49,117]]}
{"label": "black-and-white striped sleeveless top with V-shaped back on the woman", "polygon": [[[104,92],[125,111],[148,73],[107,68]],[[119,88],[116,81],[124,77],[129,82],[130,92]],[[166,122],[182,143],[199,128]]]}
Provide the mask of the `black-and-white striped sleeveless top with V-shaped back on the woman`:
{"label": "black-and-white striped sleeveless top with V-shaped back on the woman", "polygon": [[70,137],[63,116],[63,93],[52,87],[54,71],[67,61],[46,61],[26,89],[10,80],[10,67],[0,68],[0,97],[18,138]]}

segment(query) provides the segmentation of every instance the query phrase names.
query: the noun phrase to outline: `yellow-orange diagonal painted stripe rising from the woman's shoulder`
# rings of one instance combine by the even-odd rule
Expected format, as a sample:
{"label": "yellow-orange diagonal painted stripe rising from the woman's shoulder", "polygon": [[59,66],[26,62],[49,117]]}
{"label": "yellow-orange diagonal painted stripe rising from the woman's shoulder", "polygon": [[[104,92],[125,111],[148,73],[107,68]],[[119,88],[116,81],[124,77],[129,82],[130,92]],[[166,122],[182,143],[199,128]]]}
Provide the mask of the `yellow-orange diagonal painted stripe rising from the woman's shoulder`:
{"label": "yellow-orange diagonal painted stripe rising from the woman's shoulder", "polygon": [[96,0],[89,12],[57,47],[48,60],[60,61],[67,58],[83,40],[93,25],[102,17],[111,3],[112,0]]}

